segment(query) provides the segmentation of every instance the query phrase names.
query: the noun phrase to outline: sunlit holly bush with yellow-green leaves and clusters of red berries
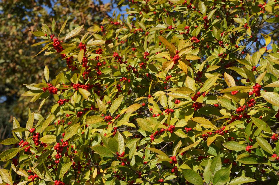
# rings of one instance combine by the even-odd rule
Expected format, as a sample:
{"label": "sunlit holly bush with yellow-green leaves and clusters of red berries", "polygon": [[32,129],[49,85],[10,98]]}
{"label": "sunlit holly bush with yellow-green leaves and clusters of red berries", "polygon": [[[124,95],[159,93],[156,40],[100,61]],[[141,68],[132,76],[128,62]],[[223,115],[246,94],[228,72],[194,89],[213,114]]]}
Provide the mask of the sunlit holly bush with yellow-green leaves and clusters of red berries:
{"label": "sunlit holly bush with yellow-green leaves and clusters of red berries", "polygon": [[53,104],[14,118],[1,183],[277,184],[276,0],[118,4],[88,28],[31,31],[62,67],[26,85]]}

